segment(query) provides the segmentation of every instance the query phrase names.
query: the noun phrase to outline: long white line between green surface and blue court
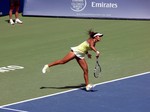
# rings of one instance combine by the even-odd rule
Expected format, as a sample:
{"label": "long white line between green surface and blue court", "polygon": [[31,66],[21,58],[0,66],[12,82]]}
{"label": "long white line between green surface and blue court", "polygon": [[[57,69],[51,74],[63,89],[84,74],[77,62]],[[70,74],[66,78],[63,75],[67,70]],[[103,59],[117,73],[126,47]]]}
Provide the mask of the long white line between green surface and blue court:
{"label": "long white line between green surface and blue court", "polygon": [[[97,83],[97,84],[95,84],[95,86],[97,86],[97,85],[102,85],[102,84],[106,84],[106,83],[111,83],[111,82],[115,82],[115,81],[120,81],[120,80],[124,80],[124,79],[129,79],[129,78],[133,78],[133,77],[137,77],[137,76],[142,76],[142,75],[146,75],[146,74],[149,74],[149,73],[150,73],[150,72],[144,72],[144,73],[135,74],[135,75],[132,75],[132,76],[127,76],[127,77],[123,77],[123,78],[119,78],[119,79],[115,79],[115,80],[111,80],[111,81],[106,81],[106,82],[102,82],[102,83]],[[50,96],[56,96],[56,95],[68,93],[68,92],[75,91],[75,90],[79,90],[79,89],[80,89],[80,88],[71,89],[71,90],[67,90],[67,91],[63,91],[63,92],[58,92],[58,93],[54,93],[54,94],[50,94],[50,95],[46,95],[46,96],[41,96],[41,97],[37,97],[37,98],[33,98],[33,99],[28,99],[28,100],[24,100],[24,101],[20,101],[20,102],[16,102],[16,103],[6,104],[6,105],[0,106],[0,108],[4,108],[4,107],[6,107],[6,106],[11,106],[11,105],[16,105],[16,104],[20,104],[20,103],[25,103],[25,102],[29,102],[29,101],[33,101],[33,100],[38,100],[38,99],[42,99],[42,98],[46,98],[46,97],[50,97]],[[25,111],[25,112],[26,112],[26,111]]]}

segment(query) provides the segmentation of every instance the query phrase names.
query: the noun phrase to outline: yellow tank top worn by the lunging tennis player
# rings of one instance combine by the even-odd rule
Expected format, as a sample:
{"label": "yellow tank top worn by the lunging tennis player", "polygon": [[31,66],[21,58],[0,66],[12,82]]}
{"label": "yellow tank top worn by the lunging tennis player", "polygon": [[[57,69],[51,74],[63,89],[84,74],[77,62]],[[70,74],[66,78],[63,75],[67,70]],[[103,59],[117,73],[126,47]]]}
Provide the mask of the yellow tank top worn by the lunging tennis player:
{"label": "yellow tank top worn by the lunging tennis player", "polygon": [[84,41],[80,45],[76,46],[76,49],[83,53],[86,53],[88,52],[88,50],[91,50],[90,45],[87,41]]}

